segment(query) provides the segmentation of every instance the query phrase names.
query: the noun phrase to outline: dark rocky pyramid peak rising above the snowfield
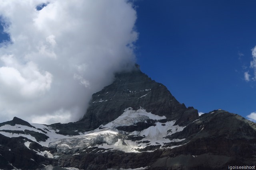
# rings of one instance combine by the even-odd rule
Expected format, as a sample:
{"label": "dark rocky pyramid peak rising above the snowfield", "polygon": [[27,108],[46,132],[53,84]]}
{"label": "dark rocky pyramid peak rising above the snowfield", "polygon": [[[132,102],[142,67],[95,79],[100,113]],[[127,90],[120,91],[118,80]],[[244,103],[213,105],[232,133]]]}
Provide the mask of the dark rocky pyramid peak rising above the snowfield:
{"label": "dark rocky pyramid peak rising above the snowfield", "polygon": [[117,73],[112,84],[92,95],[89,108],[80,120],[87,122],[89,129],[113,121],[128,107],[143,108],[180,124],[198,117],[196,109],[180,104],[166,86],[141,72],[138,64],[135,68],[131,72]]}

